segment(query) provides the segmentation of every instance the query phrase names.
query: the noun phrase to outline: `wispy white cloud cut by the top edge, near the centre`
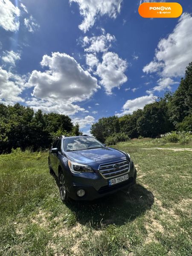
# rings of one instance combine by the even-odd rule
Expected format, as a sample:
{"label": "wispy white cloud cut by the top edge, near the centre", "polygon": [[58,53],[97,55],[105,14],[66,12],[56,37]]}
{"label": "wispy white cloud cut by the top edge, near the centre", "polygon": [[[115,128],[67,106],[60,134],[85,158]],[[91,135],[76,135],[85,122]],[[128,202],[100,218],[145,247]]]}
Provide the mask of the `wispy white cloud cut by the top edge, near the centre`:
{"label": "wispy white cloud cut by the top edge, near the centre", "polygon": [[84,17],[79,29],[86,32],[95,23],[98,16],[108,15],[116,18],[120,13],[122,0],[69,0],[70,3],[78,3],[80,14]]}

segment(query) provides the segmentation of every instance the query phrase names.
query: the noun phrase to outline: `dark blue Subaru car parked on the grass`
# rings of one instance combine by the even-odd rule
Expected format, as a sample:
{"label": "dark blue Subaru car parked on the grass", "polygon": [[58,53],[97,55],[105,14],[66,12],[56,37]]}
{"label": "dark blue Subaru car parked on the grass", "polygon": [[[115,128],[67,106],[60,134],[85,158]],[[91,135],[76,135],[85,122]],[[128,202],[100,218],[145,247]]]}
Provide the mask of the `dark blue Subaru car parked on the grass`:
{"label": "dark blue Subaru car parked on the grass", "polygon": [[87,135],[58,137],[48,163],[63,202],[90,201],[136,183],[137,171],[128,153]]}

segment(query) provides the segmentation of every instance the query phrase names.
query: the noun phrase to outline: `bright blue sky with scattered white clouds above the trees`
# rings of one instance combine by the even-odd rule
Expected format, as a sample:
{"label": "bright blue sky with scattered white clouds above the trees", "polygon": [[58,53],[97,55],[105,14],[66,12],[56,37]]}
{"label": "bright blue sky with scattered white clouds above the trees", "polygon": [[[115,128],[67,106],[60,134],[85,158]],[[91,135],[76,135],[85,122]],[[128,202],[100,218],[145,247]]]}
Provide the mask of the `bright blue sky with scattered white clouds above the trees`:
{"label": "bright blue sky with scattered white clouds above the trees", "polygon": [[192,61],[192,2],[154,19],[143,2],[0,0],[0,103],[69,115],[89,134],[174,92]]}

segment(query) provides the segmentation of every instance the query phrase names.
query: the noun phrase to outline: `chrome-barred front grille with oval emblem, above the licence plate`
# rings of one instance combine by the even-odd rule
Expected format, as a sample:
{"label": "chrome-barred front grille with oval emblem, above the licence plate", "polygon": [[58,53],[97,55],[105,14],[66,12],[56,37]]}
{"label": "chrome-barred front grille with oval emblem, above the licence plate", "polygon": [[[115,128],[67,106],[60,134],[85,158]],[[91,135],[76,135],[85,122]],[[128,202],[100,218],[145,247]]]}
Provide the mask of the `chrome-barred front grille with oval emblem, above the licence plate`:
{"label": "chrome-barred front grille with oval emblem, above the licence plate", "polygon": [[128,160],[116,161],[113,163],[103,163],[99,165],[99,172],[105,178],[113,178],[129,172]]}

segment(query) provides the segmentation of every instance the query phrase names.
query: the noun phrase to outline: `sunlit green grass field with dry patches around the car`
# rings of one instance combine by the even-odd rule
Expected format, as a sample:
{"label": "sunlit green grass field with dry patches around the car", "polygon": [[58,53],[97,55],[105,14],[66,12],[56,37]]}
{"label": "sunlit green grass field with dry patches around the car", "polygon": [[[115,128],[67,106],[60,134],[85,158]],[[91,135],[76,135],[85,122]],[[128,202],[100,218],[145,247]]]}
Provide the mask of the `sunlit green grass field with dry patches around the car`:
{"label": "sunlit green grass field with dry patches around the car", "polygon": [[67,205],[48,153],[0,155],[0,255],[192,255],[192,152],[153,146],[116,145],[137,167],[130,191]]}

